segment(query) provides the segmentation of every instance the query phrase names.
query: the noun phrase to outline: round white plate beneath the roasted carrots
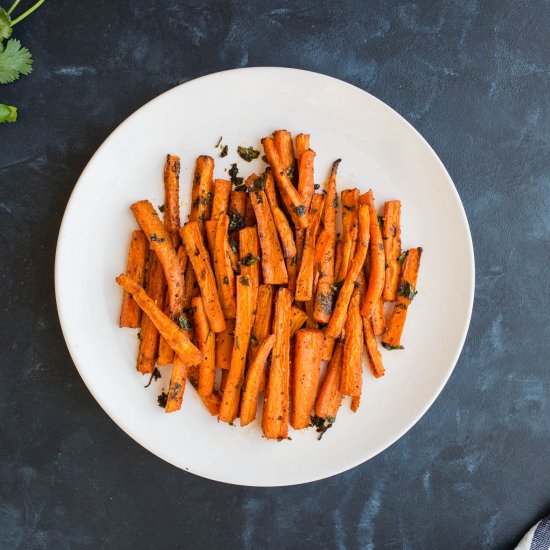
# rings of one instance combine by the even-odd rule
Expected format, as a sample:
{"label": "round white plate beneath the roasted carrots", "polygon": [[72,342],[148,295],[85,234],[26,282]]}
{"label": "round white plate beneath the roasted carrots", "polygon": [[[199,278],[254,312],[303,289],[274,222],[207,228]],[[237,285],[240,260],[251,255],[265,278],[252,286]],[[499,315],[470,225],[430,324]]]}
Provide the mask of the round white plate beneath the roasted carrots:
{"label": "round white plate beneath the roasted carrots", "polygon": [[[181,163],[187,214],[195,158],[216,159],[223,177],[263,165],[238,159],[237,145],[259,147],[278,128],[309,132],[315,179],[342,158],[338,189],[372,187],[377,204],[402,201],[404,248],[422,246],[419,294],[405,327],[404,351],[383,351],[386,375],[365,369],[357,414],[344,401],[334,427],[318,441],[313,429],[280,443],[218,423],[192,388],[183,409],[164,414],[156,402],[169,370],[144,389],[135,370],[136,331],[117,326],[130,231],[129,205],[163,204],[166,153]],[[219,158],[219,136],[230,154]],[[182,219],[184,216],[182,216]],[[55,288],[61,326],[84,382],[109,416],[138,443],[195,474],[240,485],[291,485],[352,468],[401,437],[433,403],[464,343],[474,291],[474,256],[457,191],[437,155],[384,103],[339,80],[282,68],[239,69],[188,82],[154,99],[121,124],[90,160],[71,196],[59,233]],[[292,432],[292,430],[291,430]]]}

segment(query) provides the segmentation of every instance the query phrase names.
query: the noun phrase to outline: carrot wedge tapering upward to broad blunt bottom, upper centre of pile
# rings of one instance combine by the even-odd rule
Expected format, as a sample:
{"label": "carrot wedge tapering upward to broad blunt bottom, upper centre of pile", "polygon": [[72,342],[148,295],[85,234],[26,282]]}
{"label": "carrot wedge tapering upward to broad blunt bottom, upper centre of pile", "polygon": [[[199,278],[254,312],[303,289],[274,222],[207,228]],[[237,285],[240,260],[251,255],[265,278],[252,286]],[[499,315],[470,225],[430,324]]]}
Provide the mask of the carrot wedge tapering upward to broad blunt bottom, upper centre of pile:
{"label": "carrot wedge tapering upward to broad blunt bottom, upper centre of pile", "polygon": [[[248,187],[252,187],[258,179],[256,174],[252,174],[247,180]],[[258,237],[262,249],[262,275],[264,283],[270,285],[284,285],[288,283],[288,274],[286,271],[283,251],[279,238],[277,237],[277,229],[271,210],[267,203],[267,197],[264,191],[253,191],[250,193],[250,200],[256,213],[258,222]]]}

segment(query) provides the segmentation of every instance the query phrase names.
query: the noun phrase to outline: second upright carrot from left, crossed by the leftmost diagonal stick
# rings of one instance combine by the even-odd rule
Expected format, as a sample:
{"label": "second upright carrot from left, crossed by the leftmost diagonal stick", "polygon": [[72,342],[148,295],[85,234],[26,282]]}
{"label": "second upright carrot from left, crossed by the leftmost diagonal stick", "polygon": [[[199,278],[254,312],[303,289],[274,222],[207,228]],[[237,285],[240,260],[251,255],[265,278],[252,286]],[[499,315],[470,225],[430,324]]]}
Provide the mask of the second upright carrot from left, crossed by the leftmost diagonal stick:
{"label": "second upright carrot from left, crossed by the leftmost diagonal stick", "polygon": [[[166,279],[158,258],[153,254],[149,261],[149,273],[147,277],[147,293],[159,309],[164,307],[166,295]],[[139,352],[137,370],[143,374],[151,373],[155,369],[157,350],[159,344],[159,332],[147,315],[141,317],[139,331]]]}

